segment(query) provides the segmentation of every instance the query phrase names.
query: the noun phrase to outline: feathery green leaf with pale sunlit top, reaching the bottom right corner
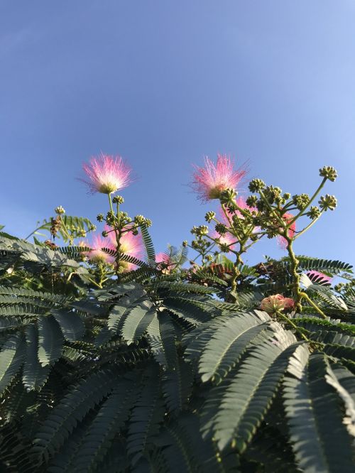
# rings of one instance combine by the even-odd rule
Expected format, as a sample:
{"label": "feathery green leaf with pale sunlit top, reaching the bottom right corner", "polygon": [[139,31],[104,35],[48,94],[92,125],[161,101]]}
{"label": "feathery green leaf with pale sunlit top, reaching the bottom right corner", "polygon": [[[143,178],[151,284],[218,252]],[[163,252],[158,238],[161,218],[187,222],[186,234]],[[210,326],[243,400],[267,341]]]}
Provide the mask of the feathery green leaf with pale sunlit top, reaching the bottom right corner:
{"label": "feathery green leaf with pale sunlit top, reaching the bottom right corner", "polygon": [[285,411],[297,463],[305,472],[352,472],[350,437],[342,423],[339,398],[325,376],[324,354],[295,352],[284,381]]}

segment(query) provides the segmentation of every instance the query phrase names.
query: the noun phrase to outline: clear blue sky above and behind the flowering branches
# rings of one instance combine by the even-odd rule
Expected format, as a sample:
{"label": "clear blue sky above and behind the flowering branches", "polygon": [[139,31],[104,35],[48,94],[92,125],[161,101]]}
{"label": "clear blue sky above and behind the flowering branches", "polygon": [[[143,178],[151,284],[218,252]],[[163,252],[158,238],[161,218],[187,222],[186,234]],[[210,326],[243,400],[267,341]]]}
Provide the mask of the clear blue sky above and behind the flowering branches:
{"label": "clear blue sky above and behind the flowering branches", "polygon": [[291,193],[334,165],[339,207],[295,249],[354,263],[354,25],[355,0],[1,0],[0,223],[25,237],[57,205],[95,222],[107,198],[76,178],[103,151],[135,170],[126,210],[162,251],[214,208],[187,184],[219,151]]}

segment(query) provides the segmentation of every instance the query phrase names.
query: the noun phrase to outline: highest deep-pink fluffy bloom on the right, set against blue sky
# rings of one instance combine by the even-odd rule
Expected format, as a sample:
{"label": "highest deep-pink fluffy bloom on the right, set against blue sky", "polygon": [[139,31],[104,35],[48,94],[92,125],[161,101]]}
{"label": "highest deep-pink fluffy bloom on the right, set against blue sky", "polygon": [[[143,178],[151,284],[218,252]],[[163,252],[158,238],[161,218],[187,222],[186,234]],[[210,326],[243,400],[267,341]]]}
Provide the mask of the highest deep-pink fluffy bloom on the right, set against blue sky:
{"label": "highest deep-pink fluffy bloom on the right, set against blue sky", "polygon": [[217,163],[204,158],[204,168],[195,166],[192,188],[204,202],[219,199],[222,190],[235,189],[246,175],[246,170],[233,169],[233,161],[229,156],[217,155]]}

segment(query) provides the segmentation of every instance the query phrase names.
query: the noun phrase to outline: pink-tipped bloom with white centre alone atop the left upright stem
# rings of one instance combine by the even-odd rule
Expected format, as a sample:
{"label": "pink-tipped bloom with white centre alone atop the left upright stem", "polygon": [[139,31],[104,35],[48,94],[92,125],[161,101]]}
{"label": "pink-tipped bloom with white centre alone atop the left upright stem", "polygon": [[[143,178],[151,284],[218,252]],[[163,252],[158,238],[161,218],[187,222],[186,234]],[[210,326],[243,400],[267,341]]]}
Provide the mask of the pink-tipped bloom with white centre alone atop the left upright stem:
{"label": "pink-tipped bloom with white centre alone atop the left upright stem", "polygon": [[91,192],[111,194],[131,183],[131,168],[121,156],[101,153],[100,156],[91,158],[89,164],[83,164],[82,168],[89,178],[82,181],[89,185]]}

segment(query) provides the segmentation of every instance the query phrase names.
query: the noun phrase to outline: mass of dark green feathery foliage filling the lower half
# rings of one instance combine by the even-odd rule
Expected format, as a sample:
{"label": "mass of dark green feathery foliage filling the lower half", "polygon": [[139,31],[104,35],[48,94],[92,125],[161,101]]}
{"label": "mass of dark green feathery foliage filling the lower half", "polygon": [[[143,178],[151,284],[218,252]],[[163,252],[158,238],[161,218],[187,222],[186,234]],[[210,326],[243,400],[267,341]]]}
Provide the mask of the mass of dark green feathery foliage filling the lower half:
{"label": "mass of dark green feathery foliage filling the lower half", "polygon": [[[288,295],[288,259],[239,266],[229,303],[226,259],[187,273],[170,249],[163,273],[142,234],[148,263],[123,256],[141,267],[102,288],[80,247],[0,234],[1,471],[354,471],[352,286],[304,278],[327,318],[278,318],[258,307]],[[351,283],[346,263],[300,261]]]}

